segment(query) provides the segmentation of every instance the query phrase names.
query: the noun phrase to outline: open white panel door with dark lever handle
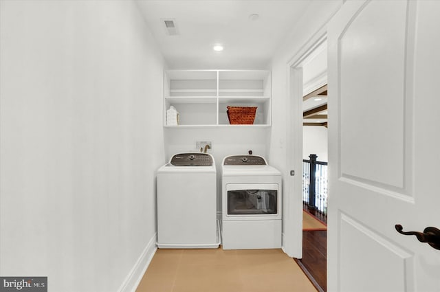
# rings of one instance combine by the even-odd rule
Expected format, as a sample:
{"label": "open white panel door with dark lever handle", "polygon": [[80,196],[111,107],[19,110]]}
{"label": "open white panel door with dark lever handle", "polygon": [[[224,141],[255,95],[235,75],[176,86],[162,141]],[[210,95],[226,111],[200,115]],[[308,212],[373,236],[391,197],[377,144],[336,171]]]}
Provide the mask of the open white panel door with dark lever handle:
{"label": "open white panel door with dark lever handle", "polygon": [[440,291],[440,1],[347,1],[328,27],[329,291]]}

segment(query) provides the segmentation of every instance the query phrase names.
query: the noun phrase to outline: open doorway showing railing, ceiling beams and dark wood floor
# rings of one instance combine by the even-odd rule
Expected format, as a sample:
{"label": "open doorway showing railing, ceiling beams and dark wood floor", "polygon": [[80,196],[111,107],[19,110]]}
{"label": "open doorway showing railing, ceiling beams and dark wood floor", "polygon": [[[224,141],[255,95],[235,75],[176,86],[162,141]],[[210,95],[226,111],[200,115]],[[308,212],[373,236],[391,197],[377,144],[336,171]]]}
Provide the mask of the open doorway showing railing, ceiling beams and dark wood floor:
{"label": "open doorway showing railing, ceiling beams and dark wood floor", "polygon": [[[327,36],[291,65],[292,105],[300,108],[300,127],[292,136],[301,145],[303,232],[302,258],[296,262],[318,291],[327,291]],[[293,89],[296,89],[295,91]],[[300,134],[294,133],[297,129]],[[299,157],[296,157],[299,158]],[[296,189],[298,190],[298,189]]]}

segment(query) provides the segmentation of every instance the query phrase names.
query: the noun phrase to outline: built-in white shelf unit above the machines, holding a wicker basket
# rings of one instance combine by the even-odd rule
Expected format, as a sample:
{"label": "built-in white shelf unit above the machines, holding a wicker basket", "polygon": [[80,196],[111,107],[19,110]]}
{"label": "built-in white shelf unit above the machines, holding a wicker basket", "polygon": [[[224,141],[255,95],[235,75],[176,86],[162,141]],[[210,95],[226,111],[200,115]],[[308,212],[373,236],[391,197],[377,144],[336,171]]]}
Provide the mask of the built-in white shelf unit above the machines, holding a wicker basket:
{"label": "built-in white shelf unit above the machines, holding a wicker basket", "polygon": [[[179,125],[166,125],[174,106]],[[228,106],[257,106],[253,125],[230,125]],[[256,126],[272,124],[272,81],[266,70],[167,70],[164,75],[166,128]]]}

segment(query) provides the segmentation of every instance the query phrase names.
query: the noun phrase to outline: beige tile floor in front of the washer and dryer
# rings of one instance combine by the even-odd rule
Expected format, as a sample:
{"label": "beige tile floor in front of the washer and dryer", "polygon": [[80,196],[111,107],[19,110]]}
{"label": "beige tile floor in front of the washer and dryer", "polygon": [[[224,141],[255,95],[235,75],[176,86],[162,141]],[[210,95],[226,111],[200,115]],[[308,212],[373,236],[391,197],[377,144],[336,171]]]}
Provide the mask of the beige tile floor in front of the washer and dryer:
{"label": "beige tile floor in front of the washer and dryer", "polygon": [[136,292],[315,292],[281,249],[157,249]]}

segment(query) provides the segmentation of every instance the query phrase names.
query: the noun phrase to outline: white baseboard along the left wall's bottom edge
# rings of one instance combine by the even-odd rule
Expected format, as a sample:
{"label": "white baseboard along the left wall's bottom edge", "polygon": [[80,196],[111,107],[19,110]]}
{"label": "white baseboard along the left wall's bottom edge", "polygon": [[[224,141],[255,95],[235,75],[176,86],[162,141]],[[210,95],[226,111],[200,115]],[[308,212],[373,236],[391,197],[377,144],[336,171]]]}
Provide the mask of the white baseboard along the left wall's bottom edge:
{"label": "white baseboard along the left wall's bottom edge", "polygon": [[118,291],[120,292],[136,291],[137,286],[139,285],[140,281],[142,280],[142,277],[144,276],[146,268],[148,268],[148,265],[150,265],[150,262],[153,259],[153,256],[157,250],[156,237],[157,234],[155,233],[148,242],[148,245],[146,245],[144,251],[142,251],[142,254],[137,259],[130,273],[126,276],[124,282],[122,282],[122,285],[120,286],[120,289]]}

